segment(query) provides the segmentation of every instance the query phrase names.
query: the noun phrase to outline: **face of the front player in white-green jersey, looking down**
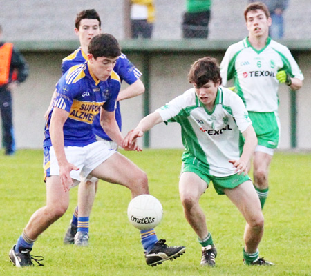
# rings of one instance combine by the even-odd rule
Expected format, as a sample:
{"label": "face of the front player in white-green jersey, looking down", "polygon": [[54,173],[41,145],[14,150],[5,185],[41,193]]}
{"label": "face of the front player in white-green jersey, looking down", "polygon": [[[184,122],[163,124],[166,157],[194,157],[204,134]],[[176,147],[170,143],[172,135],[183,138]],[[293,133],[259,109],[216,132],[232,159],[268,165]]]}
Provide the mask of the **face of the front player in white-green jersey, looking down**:
{"label": "face of the front player in white-green jersey, looking down", "polygon": [[196,85],[194,84],[196,95],[200,99],[201,103],[203,103],[209,110],[214,108],[218,87],[219,81],[217,83],[209,81],[201,88],[196,88]]}

